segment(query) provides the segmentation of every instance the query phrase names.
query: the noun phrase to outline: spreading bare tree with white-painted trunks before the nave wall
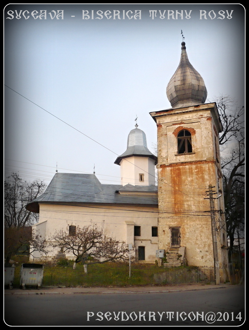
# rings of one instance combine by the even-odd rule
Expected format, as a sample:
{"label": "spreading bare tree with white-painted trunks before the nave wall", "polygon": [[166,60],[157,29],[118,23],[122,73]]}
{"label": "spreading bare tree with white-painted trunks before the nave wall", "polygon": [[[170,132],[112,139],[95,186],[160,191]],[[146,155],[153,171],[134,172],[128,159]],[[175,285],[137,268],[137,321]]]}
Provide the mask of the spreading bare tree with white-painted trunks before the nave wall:
{"label": "spreading bare tree with white-painted trunks before the nave wall", "polygon": [[69,233],[69,228],[56,231],[50,241],[52,247],[72,253],[75,257],[73,268],[82,262],[86,273],[89,264],[129,259],[127,244],[106,236],[97,224],[77,226],[73,233]]}

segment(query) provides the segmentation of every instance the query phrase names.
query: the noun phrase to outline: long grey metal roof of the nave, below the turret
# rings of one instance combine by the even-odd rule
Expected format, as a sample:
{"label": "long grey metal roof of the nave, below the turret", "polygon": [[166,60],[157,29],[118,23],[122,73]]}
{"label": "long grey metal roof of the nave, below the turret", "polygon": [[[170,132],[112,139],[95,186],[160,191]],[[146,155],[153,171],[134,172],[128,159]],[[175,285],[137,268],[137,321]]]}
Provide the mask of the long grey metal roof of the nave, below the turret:
{"label": "long grey metal roof of the nave, below the turret", "polygon": [[[130,185],[129,185],[130,186]],[[134,186],[133,186],[134,187]],[[121,184],[101,184],[94,174],[56,173],[46,191],[26,205],[31,212],[39,212],[39,203],[46,204],[136,204],[157,205],[157,196],[127,196],[116,191],[121,190]],[[131,191],[131,188],[128,187]],[[152,191],[157,187],[135,186],[132,191]],[[144,189],[144,190],[143,190]],[[147,189],[147,190],[146,190]]]}

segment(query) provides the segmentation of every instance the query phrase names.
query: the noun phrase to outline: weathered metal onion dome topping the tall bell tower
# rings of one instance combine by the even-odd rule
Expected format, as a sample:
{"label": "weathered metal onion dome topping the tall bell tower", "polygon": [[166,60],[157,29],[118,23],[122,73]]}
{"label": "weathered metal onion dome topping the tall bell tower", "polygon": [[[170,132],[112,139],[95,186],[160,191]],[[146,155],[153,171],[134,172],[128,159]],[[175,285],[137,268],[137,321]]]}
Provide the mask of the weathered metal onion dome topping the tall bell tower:
{"label": "weathered metal onion dome topping the tall bell tower", "polygon": [[206,101],[204,80],[189,62],[184,41],[181,43],[180,64],[168,83],[166,94],[172,108],[189,107]]}

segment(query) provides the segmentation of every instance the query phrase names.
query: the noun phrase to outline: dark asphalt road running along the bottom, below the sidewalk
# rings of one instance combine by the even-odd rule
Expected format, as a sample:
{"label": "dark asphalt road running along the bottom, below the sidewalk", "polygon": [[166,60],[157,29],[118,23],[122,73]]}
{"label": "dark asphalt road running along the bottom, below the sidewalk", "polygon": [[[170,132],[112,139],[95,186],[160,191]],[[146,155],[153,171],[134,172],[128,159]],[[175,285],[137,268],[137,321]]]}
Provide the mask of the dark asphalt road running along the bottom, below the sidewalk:
{"label": "dark asphalt road running along the bottom, below the sidewalk", "polygon": [[11,326],[238,326],[244,322],[244,296],[244,285],[168,293],[5,295],[4,319]]}

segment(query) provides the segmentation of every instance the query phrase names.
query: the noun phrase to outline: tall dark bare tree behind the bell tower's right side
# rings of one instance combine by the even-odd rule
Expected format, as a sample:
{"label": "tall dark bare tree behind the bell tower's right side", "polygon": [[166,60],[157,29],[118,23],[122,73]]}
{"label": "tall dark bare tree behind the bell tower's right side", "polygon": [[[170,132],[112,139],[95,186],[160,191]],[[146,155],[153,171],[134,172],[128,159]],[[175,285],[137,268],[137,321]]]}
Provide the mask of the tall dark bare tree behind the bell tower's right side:
{"label": "tall dark bare tree behind the bell tower's right side", "polygon": [[[223,132],[220,133],[221,168],[227,234],[230,238],[230,252],[233,251],[236,230],[244,229],[244,166],[245,130],[244,106],[238,107],[228,95],[220,95],[216,104],[221,117]],[[231,255],[231,253],[229,253]]]}

